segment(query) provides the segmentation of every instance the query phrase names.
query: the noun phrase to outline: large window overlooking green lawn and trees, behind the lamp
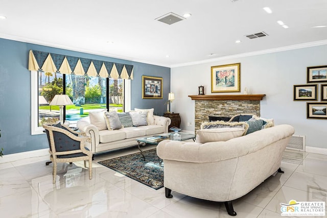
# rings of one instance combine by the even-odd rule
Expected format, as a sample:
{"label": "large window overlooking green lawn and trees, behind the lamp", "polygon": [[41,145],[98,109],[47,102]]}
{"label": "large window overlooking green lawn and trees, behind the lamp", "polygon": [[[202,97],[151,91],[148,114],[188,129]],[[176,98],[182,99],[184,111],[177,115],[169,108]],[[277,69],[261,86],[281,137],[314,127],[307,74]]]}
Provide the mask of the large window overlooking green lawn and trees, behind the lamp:
{"label": "large window overlooking green lawn and trees, behind the lamp", "polygon": [[43,133],[43,123],[59,120],[59,106],[49,105],[56,94],[67,94],[74,103],[65,106],[64,110],[65,120],[72,125],[88,116],[90,111],[130,110],[130,80],[41,71],[31,73],[32,135]]}

